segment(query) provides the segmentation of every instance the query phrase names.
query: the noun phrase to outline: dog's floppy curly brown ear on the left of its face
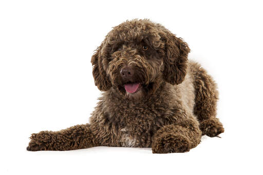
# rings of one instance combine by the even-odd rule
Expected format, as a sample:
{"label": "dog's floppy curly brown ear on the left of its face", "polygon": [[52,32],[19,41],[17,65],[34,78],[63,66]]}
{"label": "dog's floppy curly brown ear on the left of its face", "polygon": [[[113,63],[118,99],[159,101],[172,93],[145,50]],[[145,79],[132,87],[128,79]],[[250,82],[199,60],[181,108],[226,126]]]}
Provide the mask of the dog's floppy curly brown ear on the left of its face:
{"label": "dog's floppy curly brown ear on the left of its face", "polygon": [[91,57],[91,64],[93,66],[92,74],[94,77],[95,85],[101,91],[109,90],[112,86],[111,82],[108,79],[106,71],[103,69],[102,64],[102,53],[101,53],[102,45],[95,50],[95,53]]}

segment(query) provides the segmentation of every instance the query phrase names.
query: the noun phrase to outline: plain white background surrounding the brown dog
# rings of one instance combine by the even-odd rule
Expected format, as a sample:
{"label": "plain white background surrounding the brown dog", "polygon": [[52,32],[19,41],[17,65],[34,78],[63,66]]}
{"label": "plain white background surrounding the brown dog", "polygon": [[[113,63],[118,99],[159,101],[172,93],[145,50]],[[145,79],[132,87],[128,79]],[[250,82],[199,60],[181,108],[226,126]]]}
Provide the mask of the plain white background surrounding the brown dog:
{"label": "plain white background surrounding the brown dog", "polygon": [[[0,1],[0,174],[262,174],[260,1]],[[149,18],[184,38],[218,83],[220,138],[187,153],[96,147],[29,152],[31,133],[88,122],[104,36]]]}

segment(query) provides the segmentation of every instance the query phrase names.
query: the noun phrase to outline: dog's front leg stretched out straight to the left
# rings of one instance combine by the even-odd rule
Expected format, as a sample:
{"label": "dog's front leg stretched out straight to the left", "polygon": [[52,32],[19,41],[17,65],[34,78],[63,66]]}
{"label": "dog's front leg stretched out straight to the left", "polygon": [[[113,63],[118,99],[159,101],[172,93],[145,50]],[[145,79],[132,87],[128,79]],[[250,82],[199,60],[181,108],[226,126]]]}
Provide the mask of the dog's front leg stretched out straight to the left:
{"label": "dog's front leg stretched out straight to the left", "polygon": [[28,151],[73,150],[98,146],[90,131],[90,125],[76,125],[60,131],[41,131],[33,133],[27,147]]}

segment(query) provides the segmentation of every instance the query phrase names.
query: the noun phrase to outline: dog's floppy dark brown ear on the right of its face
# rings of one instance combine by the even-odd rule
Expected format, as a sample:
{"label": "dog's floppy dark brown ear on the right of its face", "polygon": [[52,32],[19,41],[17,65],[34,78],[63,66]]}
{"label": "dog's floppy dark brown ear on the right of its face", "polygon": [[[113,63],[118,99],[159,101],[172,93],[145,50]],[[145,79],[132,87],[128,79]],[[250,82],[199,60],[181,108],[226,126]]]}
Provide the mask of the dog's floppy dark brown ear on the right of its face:
{"label": "dog's floppy dark brown ear on the right of its face", "polygon": [[186,75],[187,57],[190,48],[182,38],[176,37],[167,29],[161,32],[160,35],[165,43],[163,79],[172,85],[180,84]]}

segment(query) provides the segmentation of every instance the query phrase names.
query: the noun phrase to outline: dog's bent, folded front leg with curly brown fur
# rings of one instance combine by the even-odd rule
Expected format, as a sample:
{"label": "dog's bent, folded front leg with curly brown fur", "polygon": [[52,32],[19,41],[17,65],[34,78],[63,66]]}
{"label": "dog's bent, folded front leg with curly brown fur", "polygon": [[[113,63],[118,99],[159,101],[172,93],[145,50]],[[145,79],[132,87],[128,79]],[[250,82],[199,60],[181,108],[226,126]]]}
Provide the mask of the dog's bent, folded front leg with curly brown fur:
{"label": "dog's bent, folded front leg with curly brown fur", "polygon": [[200,143],[201,130],[194,118],[179,119],[175,125],[161,127],[153,138],[153,153],[186,152]]}

